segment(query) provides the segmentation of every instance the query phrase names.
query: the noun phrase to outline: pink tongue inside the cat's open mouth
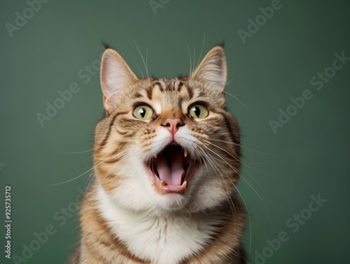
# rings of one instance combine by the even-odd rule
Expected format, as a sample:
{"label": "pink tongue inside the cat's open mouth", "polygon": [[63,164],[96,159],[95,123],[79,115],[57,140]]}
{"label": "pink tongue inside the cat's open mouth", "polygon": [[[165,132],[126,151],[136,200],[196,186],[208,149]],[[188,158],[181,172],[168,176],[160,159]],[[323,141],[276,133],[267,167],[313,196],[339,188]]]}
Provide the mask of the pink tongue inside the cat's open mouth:
{"label": "pink tongue inside the cat's open mouth", "polygon": [[181,151],[172,153],[168,159],[170,164],[168,164],[164,156],[158,156],[157,170],[160,180],[167,185],[181,186],[181,179],[185,175],[181,161]]}

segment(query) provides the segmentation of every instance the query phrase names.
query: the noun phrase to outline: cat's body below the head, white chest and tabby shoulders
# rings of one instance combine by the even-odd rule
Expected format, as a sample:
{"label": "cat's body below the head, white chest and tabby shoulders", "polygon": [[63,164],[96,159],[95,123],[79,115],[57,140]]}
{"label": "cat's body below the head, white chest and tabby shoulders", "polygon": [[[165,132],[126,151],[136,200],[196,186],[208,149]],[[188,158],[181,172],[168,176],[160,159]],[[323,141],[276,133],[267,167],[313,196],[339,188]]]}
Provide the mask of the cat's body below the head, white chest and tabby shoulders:
{"label": "cat's body below the head, white chest and tabby shoulders", "polygon": [[244,263],[244,210],[231,198],[233,211],[223,205],[183,214],[132,212],[113,202],[96,182],[80,210],[78,256],[86,263]]}

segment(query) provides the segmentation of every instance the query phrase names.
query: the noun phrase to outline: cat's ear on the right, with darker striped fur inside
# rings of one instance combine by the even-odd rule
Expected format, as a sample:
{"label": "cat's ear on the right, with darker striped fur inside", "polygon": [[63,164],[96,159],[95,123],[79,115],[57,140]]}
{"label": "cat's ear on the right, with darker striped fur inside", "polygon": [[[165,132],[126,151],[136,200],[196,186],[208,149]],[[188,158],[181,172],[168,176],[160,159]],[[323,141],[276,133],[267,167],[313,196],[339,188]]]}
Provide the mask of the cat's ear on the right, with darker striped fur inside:
{"label": "cat's ear on the right, with darker striped fur inside", "polygon": [[202,80],[209,85],[224,90],[228,78],[228,68],[223,47],[215,46],[209,50],[191,78]]}

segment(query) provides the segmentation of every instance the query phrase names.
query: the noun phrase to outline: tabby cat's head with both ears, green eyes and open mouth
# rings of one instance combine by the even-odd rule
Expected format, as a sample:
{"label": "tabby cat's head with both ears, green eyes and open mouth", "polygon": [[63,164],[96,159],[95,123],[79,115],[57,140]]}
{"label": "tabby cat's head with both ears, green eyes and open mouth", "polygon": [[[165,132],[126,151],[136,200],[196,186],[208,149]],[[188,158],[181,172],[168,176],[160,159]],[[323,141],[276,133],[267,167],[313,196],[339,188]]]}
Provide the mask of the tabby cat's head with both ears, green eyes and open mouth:
{"label": "tabby cat's head with both ears, green eyes and open mouth", "polygon": [[226,78],[221,46],[193,74],[174,79],[139,79],[116,50],[104,51],[94,166],[114,203],[199,211],[229,199],[240,152],[237,122],[225,110]]}

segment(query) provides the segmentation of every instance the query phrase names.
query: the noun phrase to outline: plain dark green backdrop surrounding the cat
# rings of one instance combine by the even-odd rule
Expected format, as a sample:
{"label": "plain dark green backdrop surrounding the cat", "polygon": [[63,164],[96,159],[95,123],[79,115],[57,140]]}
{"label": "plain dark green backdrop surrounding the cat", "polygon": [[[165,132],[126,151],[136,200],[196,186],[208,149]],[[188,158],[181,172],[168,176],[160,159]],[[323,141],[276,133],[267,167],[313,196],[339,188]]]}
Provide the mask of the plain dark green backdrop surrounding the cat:
{"label": "plain dark green backdrop surrounding the cat", "polygon": [[[149,73],[166,78],[188,73],[190,54],[197,63],[202,45],[203,57],[225,41],[226,90],[241,102],[227,96],[241,126],[239,191],[250,215],[244,244],[251,263],[259,263],[257,252],[269,255],[265,263],[349,263],[350,61],[320,91],[310,79],[332,66],[335,53],[350,57],[350,3],[280,5],[244,44],[239,29],[248,31],[248,19],[271,1],[171,0],[155,14],[146,0],[50,0],[12,37],[6,23],[15,24],[15,13],[28,3],[1,1],[0,214],[3,226],[5,186],[11,185],[12,254],[22,256],[23,244],[50,225],[56,233],[27,263],[64,263],[78,241],[77,213],[65,217],[60,210],[75,210],[72,202],[91,179],[89,149],[103,113],[102,92],[99,71],[85,78],[78,73],[98,63],[101,41],[139,77],[146,71],[137,46],[144,57],[148,51]],[[80,91],[42,127],[36,114],[45,114],[46,103],[72,82]],[[269,120],[278,121],[279,108],[286,110],[304,89],[313,98],[273,133]],[[310,196],[318,194],[327,202],[307,215]],[[300,212],[309,219],[293,233],[286,222]],[[4,249],[6,230],[0,229]],[[270,252],[266,240],[283,231],[288,241]],[[14,263],[1,252],[0,263]]]}

